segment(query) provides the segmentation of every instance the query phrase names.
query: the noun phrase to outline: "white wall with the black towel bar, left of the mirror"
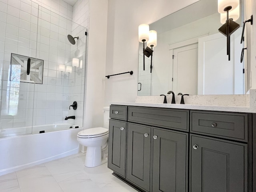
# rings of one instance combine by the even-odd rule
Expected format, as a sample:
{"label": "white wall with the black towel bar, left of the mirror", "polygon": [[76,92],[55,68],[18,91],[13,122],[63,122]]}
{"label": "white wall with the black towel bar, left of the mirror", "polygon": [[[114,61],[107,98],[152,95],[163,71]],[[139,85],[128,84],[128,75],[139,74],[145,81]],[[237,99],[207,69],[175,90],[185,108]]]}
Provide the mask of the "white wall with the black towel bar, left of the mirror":
{"label": "white wall with the black towel bar, left of the mirror", "polygon": [[108,0],[106,75],[134,71],[106,79],[105,105],[134,102],[138,88],[138,26],[150,24],[197,0]]}

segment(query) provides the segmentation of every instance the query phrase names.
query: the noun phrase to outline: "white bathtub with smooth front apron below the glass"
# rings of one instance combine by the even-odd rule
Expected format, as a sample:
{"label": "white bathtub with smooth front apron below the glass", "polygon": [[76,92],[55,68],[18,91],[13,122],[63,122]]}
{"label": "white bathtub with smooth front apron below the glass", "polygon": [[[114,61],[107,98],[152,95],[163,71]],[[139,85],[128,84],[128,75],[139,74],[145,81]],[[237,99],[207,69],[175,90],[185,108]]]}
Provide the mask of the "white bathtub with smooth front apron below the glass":
{"label": "white bathtub with smooth front apron below the glass", "polygon": [[[16,136],[10,129],[2,130],[9,131],[12,137],[0,138],[0,176],[78,153],[79,144],[76,138],[83,128],[70,128],[71,126],[33,126],[33,131],[28,127],[19,128],[24,134],[22,136]],[[40,131],[45,132],[39,134]]]}

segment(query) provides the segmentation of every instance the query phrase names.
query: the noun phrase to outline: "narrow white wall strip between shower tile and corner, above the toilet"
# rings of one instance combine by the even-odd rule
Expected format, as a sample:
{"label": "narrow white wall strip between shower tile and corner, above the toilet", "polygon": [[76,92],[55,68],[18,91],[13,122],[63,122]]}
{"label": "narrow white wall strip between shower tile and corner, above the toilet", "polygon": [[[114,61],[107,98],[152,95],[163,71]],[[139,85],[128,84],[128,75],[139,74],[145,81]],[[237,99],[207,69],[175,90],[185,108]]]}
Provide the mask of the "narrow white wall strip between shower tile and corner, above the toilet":
{"label": "narrow white wall strip between shower tile and corner, above the toilet", "polygon": [[108,0],[90,1],[84,128],[103,126]]}

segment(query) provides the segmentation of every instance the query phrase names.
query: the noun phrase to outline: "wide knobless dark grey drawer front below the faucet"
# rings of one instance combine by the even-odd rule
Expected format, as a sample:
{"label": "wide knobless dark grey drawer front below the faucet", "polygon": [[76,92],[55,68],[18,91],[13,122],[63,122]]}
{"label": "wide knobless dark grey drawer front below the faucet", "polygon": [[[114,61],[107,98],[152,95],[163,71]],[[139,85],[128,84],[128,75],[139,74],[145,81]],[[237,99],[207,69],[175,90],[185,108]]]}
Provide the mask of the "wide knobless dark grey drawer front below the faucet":
{"label": "wide knobless dark grey drawer front below the faucet", "polygon": [[128,121],[188,131],[188,110],[128,107]]}

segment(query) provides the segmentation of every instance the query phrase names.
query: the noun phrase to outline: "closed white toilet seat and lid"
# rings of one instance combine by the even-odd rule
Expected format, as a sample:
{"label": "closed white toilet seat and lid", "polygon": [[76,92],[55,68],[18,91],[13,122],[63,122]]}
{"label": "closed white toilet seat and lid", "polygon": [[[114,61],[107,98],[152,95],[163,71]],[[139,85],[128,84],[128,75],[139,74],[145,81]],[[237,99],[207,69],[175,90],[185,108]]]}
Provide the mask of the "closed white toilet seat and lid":
{"label": "closed white toilet seat and lid", "polygon": [[103,127],[96,127],[85,129],[78,132],[77,136],[81,138],[92,138],[92,137],[100,137],[108,134],[108,129]]}

